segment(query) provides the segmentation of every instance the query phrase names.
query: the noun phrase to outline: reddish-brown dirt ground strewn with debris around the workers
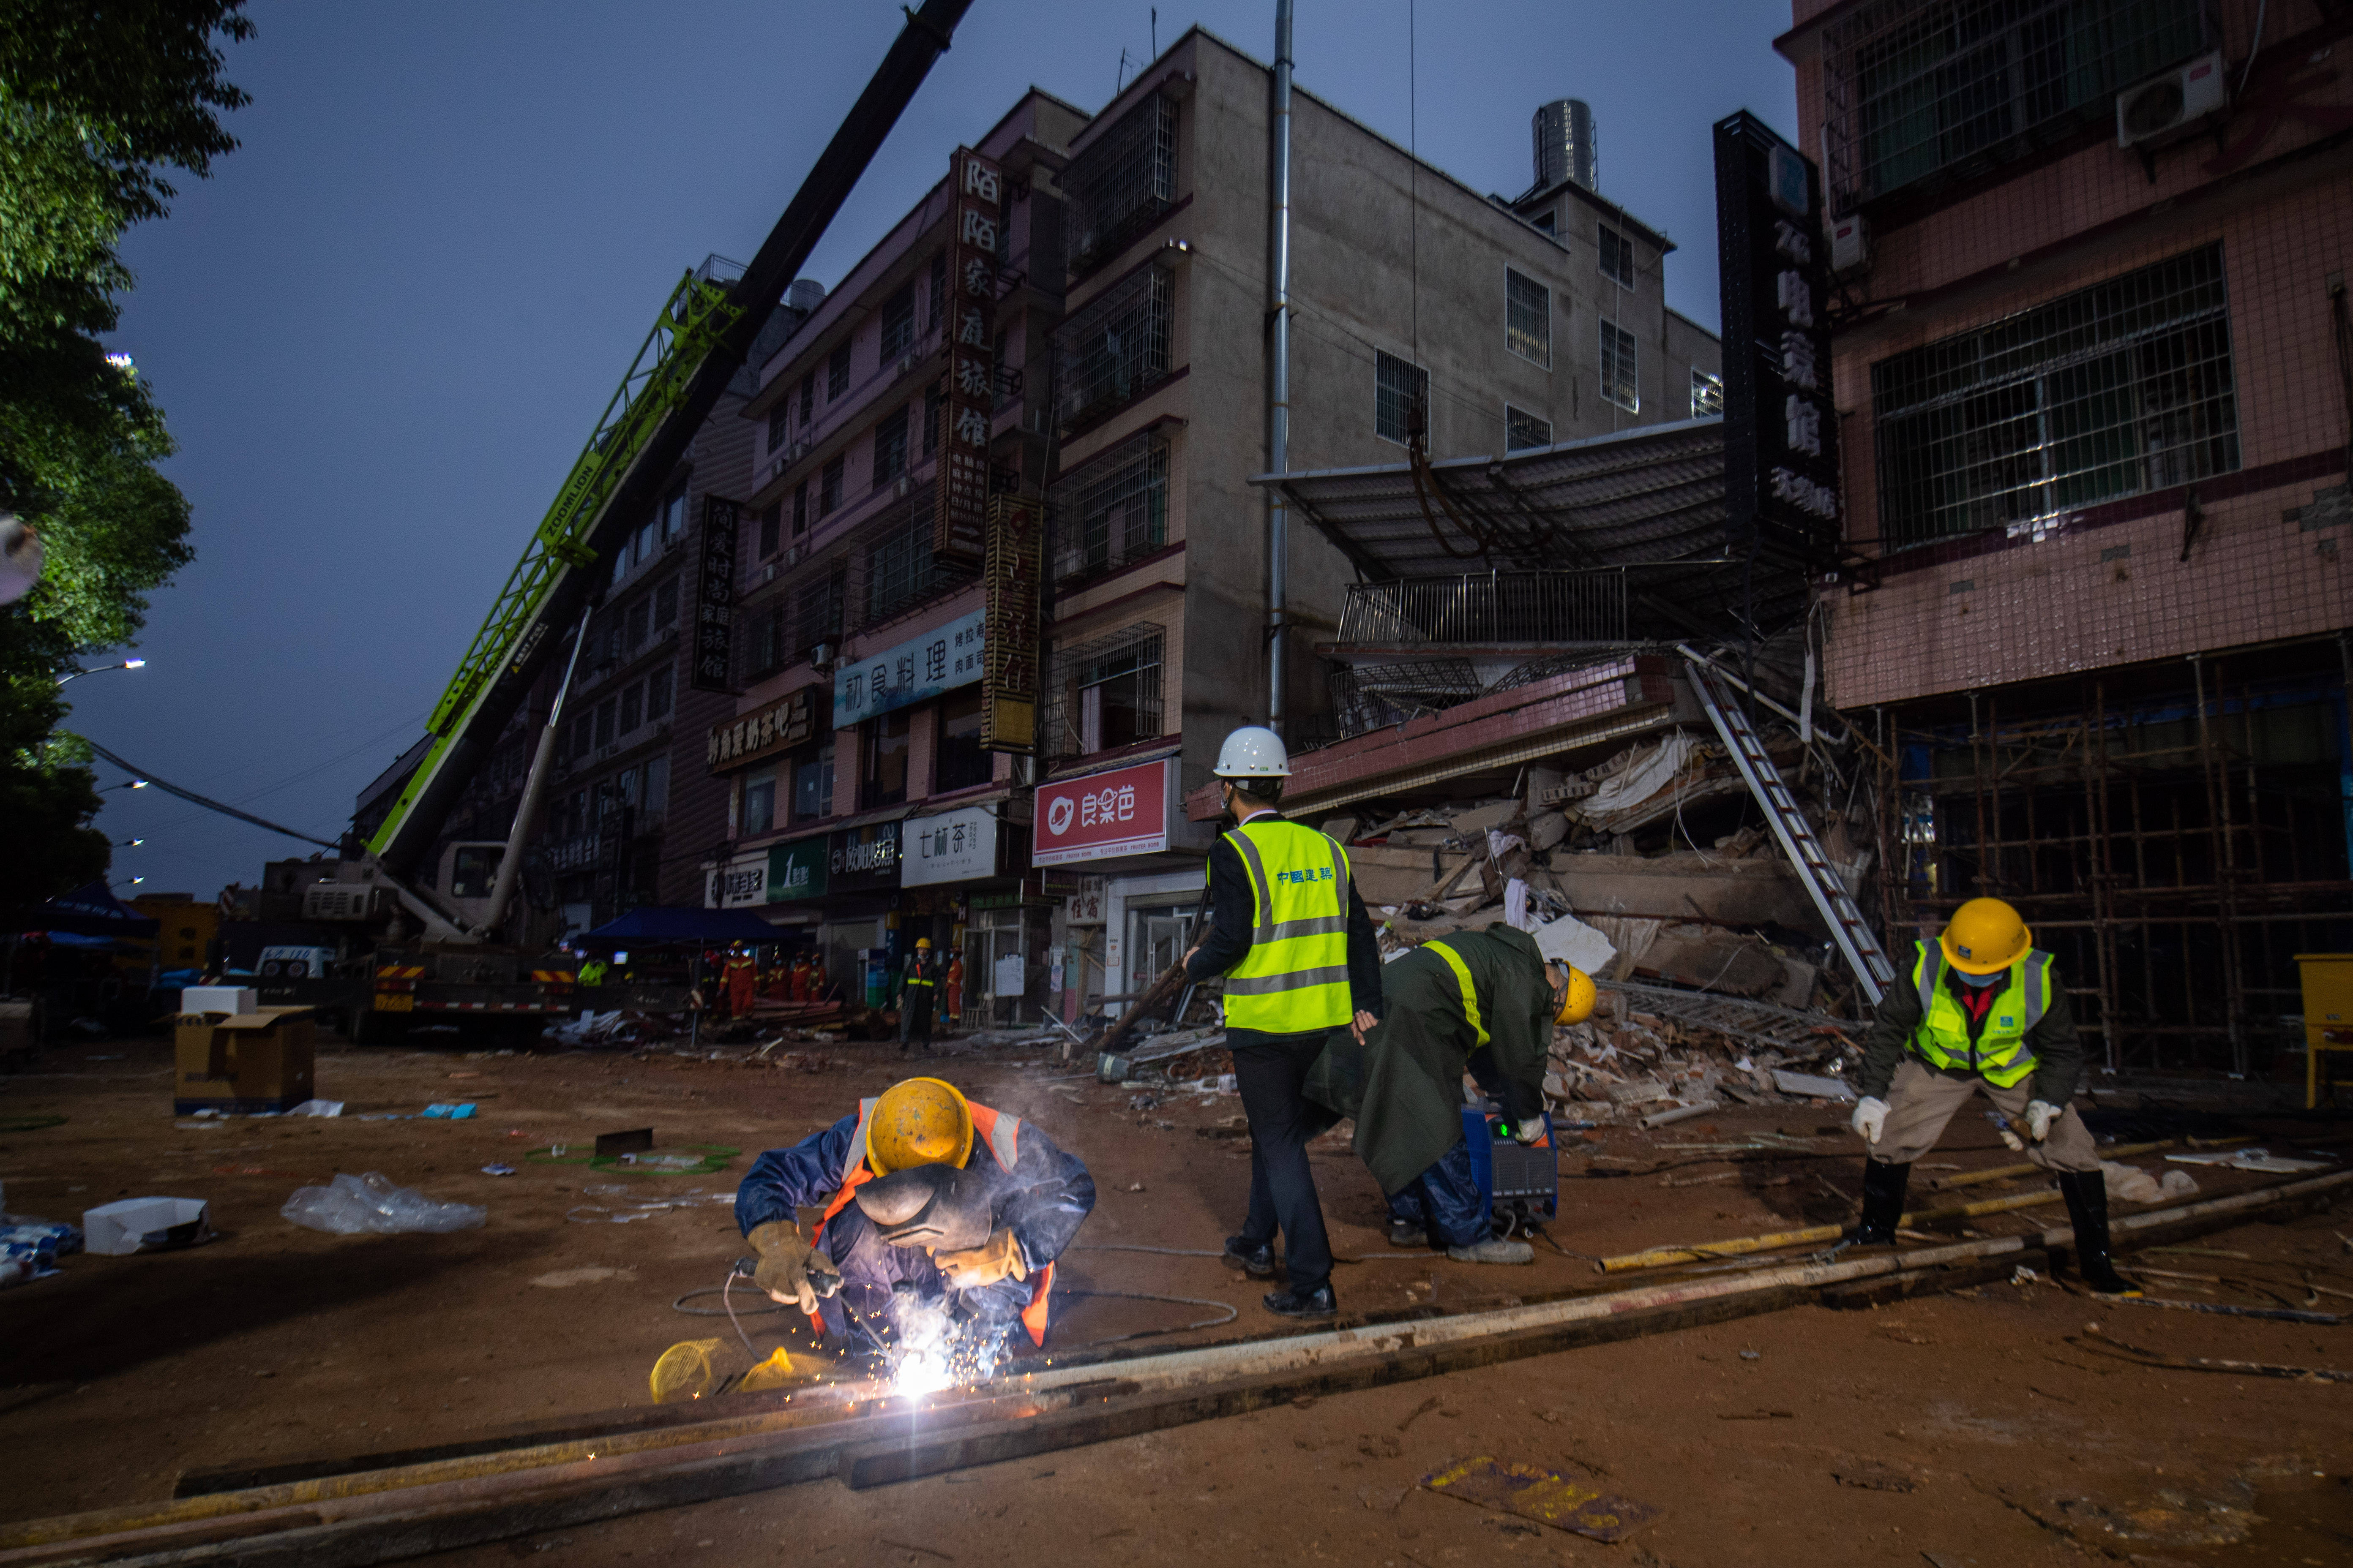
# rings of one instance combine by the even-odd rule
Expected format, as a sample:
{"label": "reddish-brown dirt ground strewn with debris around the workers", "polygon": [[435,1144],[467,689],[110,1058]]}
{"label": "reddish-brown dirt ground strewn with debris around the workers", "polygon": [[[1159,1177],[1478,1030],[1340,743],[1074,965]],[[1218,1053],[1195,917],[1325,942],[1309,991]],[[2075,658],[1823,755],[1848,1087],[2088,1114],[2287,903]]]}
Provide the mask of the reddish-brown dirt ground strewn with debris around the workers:
{"label": "reddish-brown dirt ground strewn with debris around the workers", "polygon": [[[202,1197],[224,1237],[188,1253],[68,1258],[56,1279],[0,1293],[0,1516],[160,1500],[191,1467],[379,1453],[645,1403],[666,1345],[727,1335],[725,1319],[689,1319],[673,1300],[715,1286],[744,1251],[727,1197],[753,1154],[816,1131],[904,1072],[889,1046],[795,1056],[791,1067],[751,1067],[322,1044],[318,1093],[346,1100],[344,1117],[188,1121],[167,1105],[169,1041],[47,1051],[38,1072],[0,1079],[0,1126],[66,1117],[0,1131],[7,1208],[78,1222],[115,1197]],[[1089,1164],[1101,1199],[1085,1248],[1214,1251],[1240,1218],[1247,1143],[1224,1126],[1240,1117],[1233,1095],[1136,1103],[1136,1091],[1099,1086],[1038,1048],[951,1053],[932,1070]],[[431,1100],[480,1110],[471,1121],[414,1119]],[[525,1157],[635,1126],[654,1128],[656,1152],[736,1154],[715,1175]],[[2009,1164],[1981,1128],[1958,1119],[1934,1159]],[[1734,1168],[1680,1147],[1765,1131],[1809,1140],[1793,1145],[1809,1157]],[[2329,1128],[2249,1131],[2278,1143]],[[485,1175],[487,1164],[515,1173]],[[1539,1246],[1518,1269],[1395,1253],[1379,1192],[1346,1147],[1318,1150],[1315,1168],[1337,1251],[1369,1258],[1337,1274],[1346,1314],[1593,1288],[1591,1255],[1845,1220],[1859,1147],[1835,1107],[1577,1138],[1551,1229],[1565,1251]],[[449,1237],[325,1237],[278,1215],[294,1187],[336,1171],[384,1171],[428,1197],[482,1204],[489,1222]],[[2200,1168],[2198,1180],[2217,1194],[2266,1178]],[[654,1199],[671,1206],[640,1208]],[[1929,1201],[1915,1192],[1913,1206]],[[2059,1213],[1993,1215],[1979,1234]],[[2353,1206],[2339,1204],[2141,1262],[2259,1274],[2275,1288],[2308,1274],[2353,1291],[2344,1234]],[[1217,1258],[1073,1251],[1061,1284],[1073,1295],[1059,1347],[1221,1316],[1080,1291],[1240,1309],[1228,1326],[1141,1347],[1280,1331],[1257,1305],[1264,1286]],[[2186,1300],[2259,1300],[2221,1281],[2162,1284]],[[2353,1309],[2344,1295],[2294,1288],[2294,1305],[2311,1300]],[[2353,1385],[2134,1366],[2085,1345],[2087,1324],[2169,1356],[2353,1368],[2346,1326],[2000,1284],[1866,1312],[1802,1307],[868,1493],[786,1488],[449,1561],[487,1568],[548,1552],[562,1563],[920,1568],[1000,1561],[1035,1542],[1080,1563],[2353,1563]],[[767,1349],[786,1319],[746,1326]],[[1600,1544],[1419,1486],[1478,1455],[1558,1469],[1657,1516]]]}

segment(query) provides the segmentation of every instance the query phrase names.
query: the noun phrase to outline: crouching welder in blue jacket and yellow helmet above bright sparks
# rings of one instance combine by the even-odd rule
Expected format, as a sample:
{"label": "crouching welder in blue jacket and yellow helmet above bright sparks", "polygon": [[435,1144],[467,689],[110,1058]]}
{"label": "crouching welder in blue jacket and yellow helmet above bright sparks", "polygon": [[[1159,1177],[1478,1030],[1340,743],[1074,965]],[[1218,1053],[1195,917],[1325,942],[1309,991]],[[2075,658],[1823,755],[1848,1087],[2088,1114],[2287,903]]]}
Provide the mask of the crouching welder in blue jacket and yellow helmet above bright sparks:
{"label": "crouching welder in blue jacket and yellow helmet above bright sparks", "polygon": [[[824,1208],[812,1241],[798,1208]],[[1054,1260],[1094,1208],[1087,1166],[1012,1112],[906,1079],[736,1187],[753,1284],[838,1342],[889,1349],[946,1319],[1045,1345]]]}

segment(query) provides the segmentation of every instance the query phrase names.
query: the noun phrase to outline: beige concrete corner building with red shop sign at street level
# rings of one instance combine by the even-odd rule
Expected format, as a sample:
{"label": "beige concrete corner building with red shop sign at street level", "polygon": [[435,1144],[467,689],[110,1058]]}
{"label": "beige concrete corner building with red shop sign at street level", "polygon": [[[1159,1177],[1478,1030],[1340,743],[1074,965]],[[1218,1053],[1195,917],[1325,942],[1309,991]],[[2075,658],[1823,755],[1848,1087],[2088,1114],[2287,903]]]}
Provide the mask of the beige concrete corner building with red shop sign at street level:
{"label": "beige concrete corner building with red shop sign at street level", "polygon": [[[1141,990],[1200,900],[1200,788],[1268,717],[1273,73],[1191,31],[1080,129],[1049,489],[1052,661],[1038,858],[1078,884],[1068,1006]],[[1581,108],[1581,106],[1579,106]],[[1591,146],[1591,143],[1588,143]],[[1289,470],[1508,454],[1713,411],[1718,346],[1664,299],[1671,242],[1544,143],[1471,190],[1292,96]],[[1294,748],[1334,738],[1315,639],[1355,564],[1287,529]]]}

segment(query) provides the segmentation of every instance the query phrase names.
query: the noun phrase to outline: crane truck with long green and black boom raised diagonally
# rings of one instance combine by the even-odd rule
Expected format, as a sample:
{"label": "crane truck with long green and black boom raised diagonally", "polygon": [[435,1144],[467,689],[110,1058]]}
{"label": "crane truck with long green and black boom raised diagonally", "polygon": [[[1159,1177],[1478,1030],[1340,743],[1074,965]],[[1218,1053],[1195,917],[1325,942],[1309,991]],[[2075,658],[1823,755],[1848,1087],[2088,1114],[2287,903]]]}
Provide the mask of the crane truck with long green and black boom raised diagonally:
{"label": "crane truck with long green and black boom raised diagonally", "polygon": [[[332,917],[329,905],[341,905],[344,917],[391,917],[393,936],[374,954],[369,1034],[405,1032],[428,1016],[520,1025],[572,1011],[572,971],[499,938],[511,936],[522,846],[546,795],[579,632],[569,639],[565,677],[539,731],[508,837],[440,844],[442,823],[525,696],[565,654],[565,630],[586,628],[609,576],[595,569],[598,562],[612,559],[633,522],[654,505],[656,487],[741,369],[760,327],[948,49],[969,5],[925,0],[906,9],[882,66],[741,275],[727,280],[706,263],[671,289],[628,376],[433,705],[426,736],[412,748],[416,766],[407,783],[360,856],[336,860],[332,882],[306,891],[306,912]],[[428,860],[438,863],[428,867]]]}

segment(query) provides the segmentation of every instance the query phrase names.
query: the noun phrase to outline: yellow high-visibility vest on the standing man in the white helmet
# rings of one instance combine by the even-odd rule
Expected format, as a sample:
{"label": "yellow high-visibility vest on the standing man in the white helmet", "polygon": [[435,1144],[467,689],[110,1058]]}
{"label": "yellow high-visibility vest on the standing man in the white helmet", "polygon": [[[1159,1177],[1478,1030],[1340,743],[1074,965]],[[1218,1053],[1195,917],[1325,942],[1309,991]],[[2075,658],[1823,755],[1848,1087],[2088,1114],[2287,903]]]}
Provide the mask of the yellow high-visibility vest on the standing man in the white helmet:
{"label": "yellow high-visibility vest on the standing man in the white helmet", "polygon": [[1348,1023],[1348,851],[1278,816],[1226,837],[1252,900],[1249,952],[1226,971],[1226,1027],[1306,1034]]}

